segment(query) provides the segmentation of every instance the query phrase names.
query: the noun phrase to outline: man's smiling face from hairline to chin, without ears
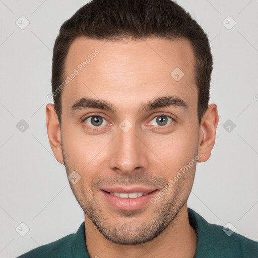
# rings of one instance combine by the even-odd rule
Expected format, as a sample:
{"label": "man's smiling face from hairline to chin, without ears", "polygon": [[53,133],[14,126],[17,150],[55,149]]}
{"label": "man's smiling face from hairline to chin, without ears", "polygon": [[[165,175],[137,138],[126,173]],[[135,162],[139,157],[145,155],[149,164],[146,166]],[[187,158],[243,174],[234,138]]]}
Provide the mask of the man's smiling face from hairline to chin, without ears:
{"label": "man's smiling face from hairline to chin, without ears", "polygon": [[193,59],[184,39],[81,37],[69,49],[66,75],[76,75],[62,90],[57,159],[76,171],[78,203],[112,242],[149,241],[186,205],[203,136]]}

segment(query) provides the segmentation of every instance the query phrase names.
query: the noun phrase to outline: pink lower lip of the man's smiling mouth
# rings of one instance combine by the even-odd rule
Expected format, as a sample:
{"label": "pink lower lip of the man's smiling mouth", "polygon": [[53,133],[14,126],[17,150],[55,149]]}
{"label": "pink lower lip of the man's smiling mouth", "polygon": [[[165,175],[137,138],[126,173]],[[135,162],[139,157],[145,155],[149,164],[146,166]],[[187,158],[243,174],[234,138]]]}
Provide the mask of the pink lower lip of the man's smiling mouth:
{"label": "pink lower lip of the man's smiling mouth", "polygon": [[137,198],[120,198],[117,196],[110,195],[109,192],[101,190],[106,198],[106,200],[118,210],[124,211],[132,211],[137,210],[145,206],[146,204],[150,203],[150,200],[153,196],[155,196],[158,190],[154,190],[148,195],[137,197]]}

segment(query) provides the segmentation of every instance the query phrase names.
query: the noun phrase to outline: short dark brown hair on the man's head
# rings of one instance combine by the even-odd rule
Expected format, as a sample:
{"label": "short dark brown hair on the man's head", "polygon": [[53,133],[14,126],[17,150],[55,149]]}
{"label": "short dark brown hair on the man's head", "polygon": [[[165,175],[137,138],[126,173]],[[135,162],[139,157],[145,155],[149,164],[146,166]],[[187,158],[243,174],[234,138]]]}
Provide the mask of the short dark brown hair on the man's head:
{"label": "short dark brown hair on the man's head", "polygon": [[[206,33],[182,7],[170,0],[93,0],[80,8],[59,31],[53,49],[52,92],[64,81],[64,63],[76,37],[94,39],[189,40],[195,54],[198,87],[198,119],[208,108],[212,73],[212,54]],[[172,71],[171,71],[172,72]],[[61,92],[54,94],[54,107],[61,124]]]}

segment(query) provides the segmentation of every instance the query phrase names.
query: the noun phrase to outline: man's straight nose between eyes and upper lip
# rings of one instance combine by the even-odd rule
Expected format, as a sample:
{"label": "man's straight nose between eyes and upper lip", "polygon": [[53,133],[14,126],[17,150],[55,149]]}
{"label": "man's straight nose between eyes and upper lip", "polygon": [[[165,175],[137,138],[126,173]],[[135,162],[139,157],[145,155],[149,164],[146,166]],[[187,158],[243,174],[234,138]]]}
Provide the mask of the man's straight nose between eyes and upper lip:
{"label": "man's straight nose between eyes and upper lip", "polygon": [[110,168],[123,175],[128,175],[140,168],[146,170],[148,148],[143,142],[141,134],[137,134],[135,127],[126,133],[118,130],[118,135],[110,146],[112,149]]}

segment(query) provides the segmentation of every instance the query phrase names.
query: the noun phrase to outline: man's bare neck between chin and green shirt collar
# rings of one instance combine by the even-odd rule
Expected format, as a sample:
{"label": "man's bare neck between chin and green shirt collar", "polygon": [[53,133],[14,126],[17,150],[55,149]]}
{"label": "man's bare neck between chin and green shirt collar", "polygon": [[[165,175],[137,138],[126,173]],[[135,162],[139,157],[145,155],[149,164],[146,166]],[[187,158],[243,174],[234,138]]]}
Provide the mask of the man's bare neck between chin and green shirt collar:
{"label": "man's bare neck between chin and green shirt collar", "polygon": [[86,246],[91,258],[105,257],[173,257],[193,258],[196,252],[197,236],[190,226],[186,204],[170,225],[153,240],[137,245],[119,245],[110,242],[100,234],[88,216],[85,215]]}

